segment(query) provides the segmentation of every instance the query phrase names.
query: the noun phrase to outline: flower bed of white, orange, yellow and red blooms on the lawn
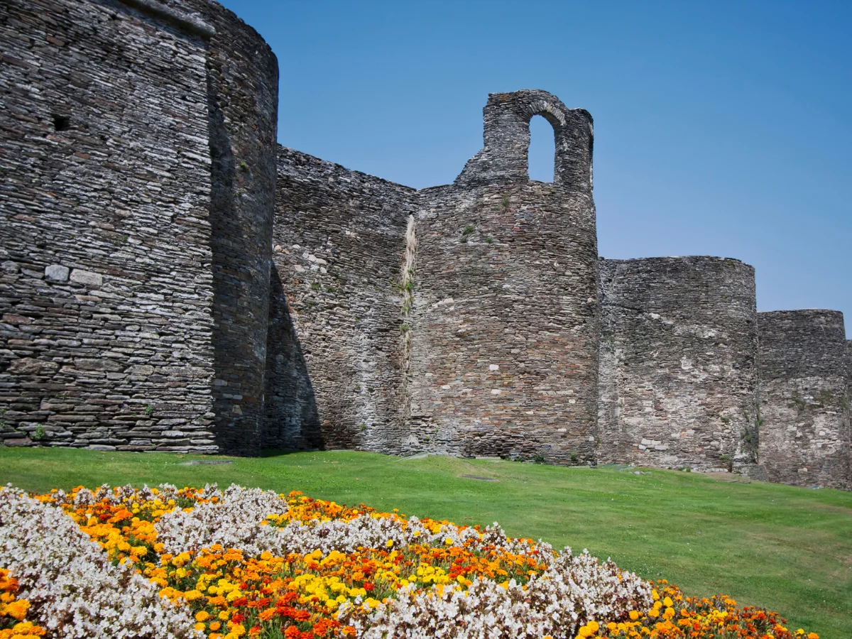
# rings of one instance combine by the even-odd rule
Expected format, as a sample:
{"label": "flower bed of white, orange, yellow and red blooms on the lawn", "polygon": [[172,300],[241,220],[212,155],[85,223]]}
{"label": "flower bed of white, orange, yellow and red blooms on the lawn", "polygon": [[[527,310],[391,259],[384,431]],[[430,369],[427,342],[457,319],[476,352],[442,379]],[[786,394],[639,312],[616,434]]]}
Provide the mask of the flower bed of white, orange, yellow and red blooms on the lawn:
{"label": "flower bed of white, orange, yellow and red blooms on the lawn", "polygon": [[497,524],[458,527],[239,486],[34,497],[6,488],[0,558],[41,626],[31,636],[803,634],[776,613],[686,597],[585,551],[508,538]]}

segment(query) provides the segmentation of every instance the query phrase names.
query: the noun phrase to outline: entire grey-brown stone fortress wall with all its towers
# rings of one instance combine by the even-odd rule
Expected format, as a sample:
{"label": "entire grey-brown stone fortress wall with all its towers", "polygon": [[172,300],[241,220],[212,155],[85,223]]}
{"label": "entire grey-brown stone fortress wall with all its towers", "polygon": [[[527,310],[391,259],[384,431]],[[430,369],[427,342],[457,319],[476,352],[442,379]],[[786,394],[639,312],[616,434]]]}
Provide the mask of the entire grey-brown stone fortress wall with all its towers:
{"label": "entire grey-brown stone fortress wall with all its towers", "polygon": [[275,56],[210,0],[9,0],[0,47],[6,444],[852,487],[842,315],[757,314],[737,260],[599,259],[588,112],[489,95],[417,191],[278,147]]}

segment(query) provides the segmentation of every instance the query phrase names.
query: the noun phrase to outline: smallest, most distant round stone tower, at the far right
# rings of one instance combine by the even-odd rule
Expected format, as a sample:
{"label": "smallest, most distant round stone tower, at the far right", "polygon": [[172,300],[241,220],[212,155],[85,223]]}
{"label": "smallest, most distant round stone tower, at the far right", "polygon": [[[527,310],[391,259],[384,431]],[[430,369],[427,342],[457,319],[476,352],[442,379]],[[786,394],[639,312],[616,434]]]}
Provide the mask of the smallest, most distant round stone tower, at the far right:
{"label": "smallest, most distant round stone tower, at the far right", "polygon": [[850,488],[849,370],[843,314],[758,314],[760,475],[799,486]]}

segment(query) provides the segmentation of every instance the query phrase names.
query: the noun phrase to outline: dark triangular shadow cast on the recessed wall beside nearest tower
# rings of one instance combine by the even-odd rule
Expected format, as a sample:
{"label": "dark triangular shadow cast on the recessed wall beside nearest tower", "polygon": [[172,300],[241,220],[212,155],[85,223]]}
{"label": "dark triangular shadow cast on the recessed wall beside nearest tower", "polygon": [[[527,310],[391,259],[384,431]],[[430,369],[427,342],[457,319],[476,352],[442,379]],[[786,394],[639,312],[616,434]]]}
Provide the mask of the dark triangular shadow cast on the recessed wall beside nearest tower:
{"label": "dark triangular shadow cast on the recessed wall beside nearest tower", "polygon": [[262,446],[280,450],[325,448],[314,384],[287,304],[278,269],[270,273],[266,418]]}

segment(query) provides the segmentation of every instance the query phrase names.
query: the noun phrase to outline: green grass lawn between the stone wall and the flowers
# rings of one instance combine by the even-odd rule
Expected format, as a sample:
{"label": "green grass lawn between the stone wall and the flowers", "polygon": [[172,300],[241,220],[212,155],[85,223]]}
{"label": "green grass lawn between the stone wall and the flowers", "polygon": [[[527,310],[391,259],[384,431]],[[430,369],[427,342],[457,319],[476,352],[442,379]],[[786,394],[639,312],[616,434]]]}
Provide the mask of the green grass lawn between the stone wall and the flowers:
{"label": "green grass lawn between the stone wall and the flowers", "polygon": [[[366,452],[302,452],[181,466],[200,456],[0,448],[0,483],[30,491],[217,481],[399,508],[588,548],[691,595],[724,592],[778,610],[792,629],[852,637],[852,493],[705,475],[568,469]],[[210,458],[207,458],[210,459]],[[498,481],[464,478],[475,475]]]}

